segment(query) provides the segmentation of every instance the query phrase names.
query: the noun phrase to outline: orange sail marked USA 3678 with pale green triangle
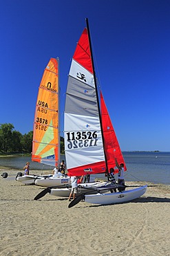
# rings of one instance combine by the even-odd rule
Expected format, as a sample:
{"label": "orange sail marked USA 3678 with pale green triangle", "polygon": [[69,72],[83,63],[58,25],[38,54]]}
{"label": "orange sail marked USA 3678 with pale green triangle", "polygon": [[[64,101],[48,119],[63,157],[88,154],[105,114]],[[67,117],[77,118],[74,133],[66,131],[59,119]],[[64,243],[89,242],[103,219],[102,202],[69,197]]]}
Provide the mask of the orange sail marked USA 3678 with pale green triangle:
{"label": "orange sail marked USA 3678 with pale green triangle", "polygon": [[36,100],[34,116],[32,161],[59,165],[59,74],[58,60],[47,64]]}

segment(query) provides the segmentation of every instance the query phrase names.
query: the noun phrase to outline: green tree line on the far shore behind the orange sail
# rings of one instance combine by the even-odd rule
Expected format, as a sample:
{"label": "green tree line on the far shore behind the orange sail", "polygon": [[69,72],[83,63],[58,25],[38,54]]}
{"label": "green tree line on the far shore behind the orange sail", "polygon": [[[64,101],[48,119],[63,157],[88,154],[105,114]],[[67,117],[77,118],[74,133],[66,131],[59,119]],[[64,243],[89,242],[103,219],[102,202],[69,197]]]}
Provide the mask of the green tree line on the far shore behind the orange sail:
{"label": "green tree line on the far shore behind the orange sail", "polygon": [[[25,154],[32,152],[33,131],[21,134],[10,123],[0,124],[0,152],[1,154]],[[64,153],[64,138],[61,137],[61,154]]]}

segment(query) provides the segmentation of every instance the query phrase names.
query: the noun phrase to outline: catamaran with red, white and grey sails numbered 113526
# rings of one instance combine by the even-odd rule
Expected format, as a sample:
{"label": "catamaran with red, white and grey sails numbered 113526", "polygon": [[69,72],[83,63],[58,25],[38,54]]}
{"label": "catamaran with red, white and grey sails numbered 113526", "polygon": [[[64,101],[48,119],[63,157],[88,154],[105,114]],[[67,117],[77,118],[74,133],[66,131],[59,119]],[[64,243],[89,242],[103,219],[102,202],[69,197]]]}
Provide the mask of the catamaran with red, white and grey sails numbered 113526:
{"label": "catamaran with red, white and grey sails numbered 113526", "polygon": [[[110,168],[118,172],[116,165],[124,164],[114,128],[100,94],[99,104],[97,79],[94,69],[92,45],[87,28],[77,43],[68,77],[65,101],[65,158],[70,176],[106,173]],[[147,190],[147,185],[134,190],[112,192],[119,184],[109,183],[105,188],[95,188],[96,194],[81,194],[69,207],[81,199],[89,203],[123,203],[138,198]],[[110,189],[109,193],[103,193]]]}

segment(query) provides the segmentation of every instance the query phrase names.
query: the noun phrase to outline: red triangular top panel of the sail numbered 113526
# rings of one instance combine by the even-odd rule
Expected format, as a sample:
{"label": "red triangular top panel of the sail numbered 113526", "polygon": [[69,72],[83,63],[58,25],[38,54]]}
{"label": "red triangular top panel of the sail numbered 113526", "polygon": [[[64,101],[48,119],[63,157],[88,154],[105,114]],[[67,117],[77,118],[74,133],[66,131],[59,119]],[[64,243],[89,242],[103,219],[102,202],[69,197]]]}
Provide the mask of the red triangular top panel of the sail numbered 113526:
{"label": "red triangular top panel of the sail numbered 113526", "polygon": [[89,48],[89,37],[87,33],[87,28],[83,30],[83,33],[76,46],[76,51],[74,52],[73,59],[86,68],[89,72],[93,72],[92,59]]}

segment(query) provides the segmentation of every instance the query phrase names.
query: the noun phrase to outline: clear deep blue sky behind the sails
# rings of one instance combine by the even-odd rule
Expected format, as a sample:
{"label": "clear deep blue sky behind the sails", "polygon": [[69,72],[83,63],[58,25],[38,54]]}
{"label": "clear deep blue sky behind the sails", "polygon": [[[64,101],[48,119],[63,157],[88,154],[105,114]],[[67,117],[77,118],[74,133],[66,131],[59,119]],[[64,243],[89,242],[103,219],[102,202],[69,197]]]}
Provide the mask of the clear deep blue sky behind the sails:
{"label": "clear deep blue sky behind the sails", "polygon": [[121,149],[170,151],[169,0],[0,0],[0,12],[0,123],[33,129],[43,70],[59,57],[63,129],[67,74],[87,17]]}

